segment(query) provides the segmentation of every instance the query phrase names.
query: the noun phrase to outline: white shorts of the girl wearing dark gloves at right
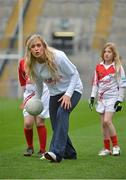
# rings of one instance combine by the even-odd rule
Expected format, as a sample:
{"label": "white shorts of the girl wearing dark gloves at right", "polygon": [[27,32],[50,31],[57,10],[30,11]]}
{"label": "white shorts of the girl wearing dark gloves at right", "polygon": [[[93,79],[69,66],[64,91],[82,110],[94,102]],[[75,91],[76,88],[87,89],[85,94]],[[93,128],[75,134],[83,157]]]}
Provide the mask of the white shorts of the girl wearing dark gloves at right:
{"label": "white shorts of the girl wearing dark gloves at right", "polygon": [[97,101],[96,111],[99,113],[115,112],[114,105],[116,101],[116,98],[102,99],[100,101]]}

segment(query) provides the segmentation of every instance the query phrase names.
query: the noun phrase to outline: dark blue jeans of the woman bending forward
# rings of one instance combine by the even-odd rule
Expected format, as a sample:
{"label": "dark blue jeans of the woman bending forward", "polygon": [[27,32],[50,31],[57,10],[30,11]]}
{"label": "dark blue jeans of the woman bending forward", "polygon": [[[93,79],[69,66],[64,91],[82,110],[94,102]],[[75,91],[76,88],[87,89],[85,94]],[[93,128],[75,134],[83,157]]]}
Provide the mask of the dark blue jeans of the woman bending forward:
{"label": "dark blue jeans of the woman bending forward", "polygon": [[53,152],[56,155],[58,162],[60,162],[62,158],[77,158],[76,150],[72,145],[70,137],[68,136],[68,130],[70,113],[78,104],[81,98],[81,94],[74,91],[71,97],[72,107],[69,110],[61,107],[61,102],[58,102],[58,100],[62,96],[63,94],[51,96],[49,103],[50,119],[53,130],[49,151]]}

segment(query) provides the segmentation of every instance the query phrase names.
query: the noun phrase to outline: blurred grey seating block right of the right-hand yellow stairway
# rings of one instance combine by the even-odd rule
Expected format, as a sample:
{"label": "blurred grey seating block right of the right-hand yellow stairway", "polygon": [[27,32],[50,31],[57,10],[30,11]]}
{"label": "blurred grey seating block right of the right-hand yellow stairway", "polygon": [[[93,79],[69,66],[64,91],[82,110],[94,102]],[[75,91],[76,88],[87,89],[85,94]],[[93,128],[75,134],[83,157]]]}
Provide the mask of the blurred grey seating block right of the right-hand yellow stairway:
{"label": "blurred grey seating block right of the right-hand yellow stairway", "polygon": [[123,59],[126,57],[126,1],[116,0],[114,6],[114,15],[112,24],[109,28],[108,41],[112,41],[118,45],[120,55]]}

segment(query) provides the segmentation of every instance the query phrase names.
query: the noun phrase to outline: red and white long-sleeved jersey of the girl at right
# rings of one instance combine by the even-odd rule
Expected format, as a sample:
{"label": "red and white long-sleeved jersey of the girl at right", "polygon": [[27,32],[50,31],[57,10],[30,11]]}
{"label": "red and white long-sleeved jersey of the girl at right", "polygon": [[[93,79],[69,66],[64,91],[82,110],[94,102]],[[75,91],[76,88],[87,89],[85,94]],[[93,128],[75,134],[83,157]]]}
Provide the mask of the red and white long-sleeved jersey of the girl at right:
{"label": "red and white long-sleeved jersey of the girl at right", "polygon": [[91,97],[96,97],[98,94],[98,99],[117,98],[123,101],[124,88],[126,88],[126,76],[122,66],[118,73],[114,63],[106,66],[101,62],[96,66]]}

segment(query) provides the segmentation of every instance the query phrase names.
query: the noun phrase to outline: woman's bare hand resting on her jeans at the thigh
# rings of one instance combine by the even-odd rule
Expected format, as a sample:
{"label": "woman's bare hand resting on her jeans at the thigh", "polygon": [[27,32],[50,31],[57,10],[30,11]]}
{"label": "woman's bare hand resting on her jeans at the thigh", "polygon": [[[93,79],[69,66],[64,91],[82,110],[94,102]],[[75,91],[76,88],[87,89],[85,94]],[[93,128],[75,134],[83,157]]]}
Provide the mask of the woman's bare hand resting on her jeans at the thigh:
{"label": "woman's bare hand resting on her jeans at the thigh", "polygon": [[70,109],[71,108],[71,100],[70,97],[67,95],[63,95],[58,102],[61,101],[61,107],[64,107],[64,109]]}

